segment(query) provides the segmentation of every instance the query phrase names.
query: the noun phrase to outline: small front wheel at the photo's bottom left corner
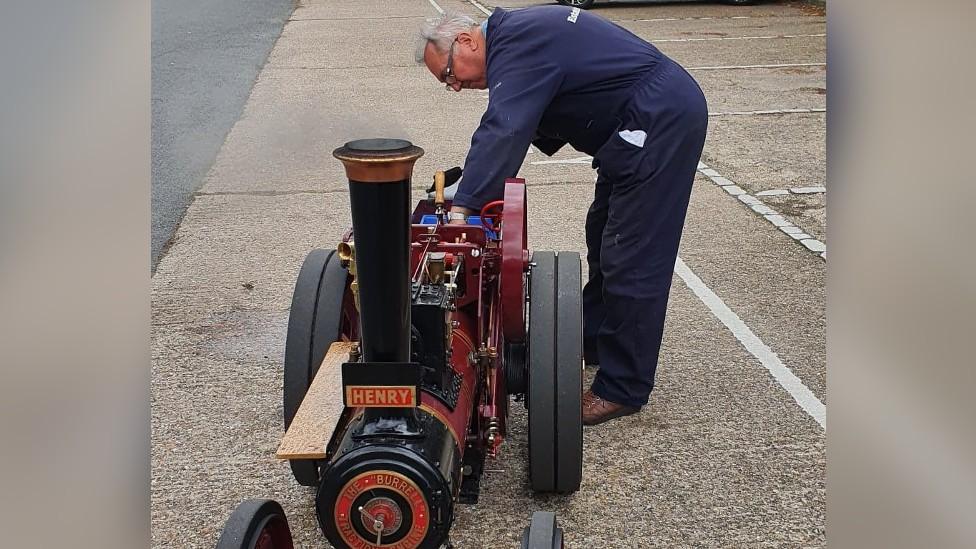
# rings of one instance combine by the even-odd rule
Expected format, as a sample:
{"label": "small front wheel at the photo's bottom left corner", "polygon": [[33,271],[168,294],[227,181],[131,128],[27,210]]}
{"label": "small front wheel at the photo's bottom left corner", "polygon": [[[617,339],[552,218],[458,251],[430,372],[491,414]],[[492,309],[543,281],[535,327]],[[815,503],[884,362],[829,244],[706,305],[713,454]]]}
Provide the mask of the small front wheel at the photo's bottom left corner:
{"label": "small front wheel at the photo's bottom left corner", "polygon": [[237,506],[220,533],[217,549],[294,549],[285,511],[270,499]]}

